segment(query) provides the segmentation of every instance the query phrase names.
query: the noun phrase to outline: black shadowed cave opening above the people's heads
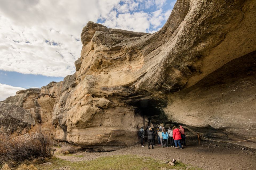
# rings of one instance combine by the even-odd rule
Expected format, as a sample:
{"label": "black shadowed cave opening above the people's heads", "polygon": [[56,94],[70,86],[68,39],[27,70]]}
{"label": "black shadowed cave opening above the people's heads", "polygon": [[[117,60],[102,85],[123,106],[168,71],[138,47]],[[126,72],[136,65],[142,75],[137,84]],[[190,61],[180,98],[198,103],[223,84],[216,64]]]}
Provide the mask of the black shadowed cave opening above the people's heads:
{"label": "black shadowed cave opening above the people's heads", "polygon": [[135,114],[139,114],[149,120],[147,124],[145,124],[146,122],[143,122],[146,127],[150,126],[150,124],[152,124],[154,128],[162,123],[170,124],[162,110],[162,107],[165,105],[161,105],[162,107],[159,106],[159,101],[139,100],[132,105],[136,107]]}

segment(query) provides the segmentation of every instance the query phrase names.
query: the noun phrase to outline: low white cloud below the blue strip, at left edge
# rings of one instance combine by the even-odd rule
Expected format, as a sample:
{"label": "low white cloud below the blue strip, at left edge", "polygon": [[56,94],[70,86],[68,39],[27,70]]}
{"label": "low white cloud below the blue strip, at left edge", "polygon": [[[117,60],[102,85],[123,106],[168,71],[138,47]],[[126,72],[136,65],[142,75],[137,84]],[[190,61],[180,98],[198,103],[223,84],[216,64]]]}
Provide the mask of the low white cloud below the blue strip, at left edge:
{"label": "low white cloud below the blue strip, at left edge", "polygon": [[17,91],[23,90],[22,87],[13,87],[0,83],[0,101],[5,100],[9,96],[14,96]]}

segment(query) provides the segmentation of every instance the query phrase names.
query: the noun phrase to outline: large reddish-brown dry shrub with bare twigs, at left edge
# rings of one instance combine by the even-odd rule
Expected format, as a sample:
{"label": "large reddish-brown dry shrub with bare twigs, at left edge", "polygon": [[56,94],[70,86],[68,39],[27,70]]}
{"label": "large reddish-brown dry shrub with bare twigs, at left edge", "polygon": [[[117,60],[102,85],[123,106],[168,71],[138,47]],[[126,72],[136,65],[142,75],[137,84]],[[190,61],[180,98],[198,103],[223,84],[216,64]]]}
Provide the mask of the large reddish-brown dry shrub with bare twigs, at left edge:
{"label": "large reddish-brown dry shrub with bare twigs, at left edge", "polygon": [[29,133],[20,136],[0,136],[0,162],[17,165],[25,160],[51,158],[50,132],[36,125]]}

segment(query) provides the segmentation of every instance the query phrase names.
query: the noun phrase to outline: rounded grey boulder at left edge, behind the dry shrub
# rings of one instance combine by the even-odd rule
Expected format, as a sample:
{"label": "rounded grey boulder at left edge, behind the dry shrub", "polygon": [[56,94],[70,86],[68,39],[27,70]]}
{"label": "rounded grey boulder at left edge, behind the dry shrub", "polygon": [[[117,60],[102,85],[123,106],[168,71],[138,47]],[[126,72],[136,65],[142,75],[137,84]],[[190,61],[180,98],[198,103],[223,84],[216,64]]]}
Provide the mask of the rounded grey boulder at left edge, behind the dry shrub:
{"label": "rounded grey boulder at left edge, behind the dry shrub", "polygon": [[6,134],[20,133],[35,124],[29,111],[11,103],[0,102],[0,131]]}

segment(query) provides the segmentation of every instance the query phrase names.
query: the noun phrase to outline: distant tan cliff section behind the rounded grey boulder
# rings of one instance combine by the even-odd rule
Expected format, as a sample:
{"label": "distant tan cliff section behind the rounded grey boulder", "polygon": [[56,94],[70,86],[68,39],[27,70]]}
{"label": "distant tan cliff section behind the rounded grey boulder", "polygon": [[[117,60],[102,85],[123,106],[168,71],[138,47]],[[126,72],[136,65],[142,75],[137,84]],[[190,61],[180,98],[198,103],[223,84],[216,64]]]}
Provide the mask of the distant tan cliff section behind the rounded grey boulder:
{"label": "distant tan cliff section behind the rounded grey boulder", "polygon": [[29,111],[36,123],[42,124],[42,130],[52,129],[52,111],[56,97],[59,94],[61,82],[51,82],[40,88],[30,88],[16,92],[8,97],[4,103],[12,103]]}

